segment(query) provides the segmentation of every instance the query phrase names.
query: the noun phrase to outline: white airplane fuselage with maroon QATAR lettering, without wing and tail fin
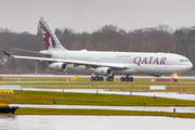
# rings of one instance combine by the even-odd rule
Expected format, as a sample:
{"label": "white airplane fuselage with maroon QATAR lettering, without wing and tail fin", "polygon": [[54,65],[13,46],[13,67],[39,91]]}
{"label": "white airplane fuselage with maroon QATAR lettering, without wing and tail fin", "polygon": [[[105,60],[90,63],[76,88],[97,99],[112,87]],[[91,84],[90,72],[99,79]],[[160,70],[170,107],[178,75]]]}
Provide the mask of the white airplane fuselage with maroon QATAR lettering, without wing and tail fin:
{"label": "white airplane fuselage with maroon QATAR lettering, without wing and tail fin", "polygon": [[[148,74],[162,75],[190,70],[193,64],[185,56],[173,53],[102,52],[102,51],[51,51],[52,58],[76,60],[122,65],[112,67],[114,75]],[[86,65],[69,64],[68,68],[93,72]]]}

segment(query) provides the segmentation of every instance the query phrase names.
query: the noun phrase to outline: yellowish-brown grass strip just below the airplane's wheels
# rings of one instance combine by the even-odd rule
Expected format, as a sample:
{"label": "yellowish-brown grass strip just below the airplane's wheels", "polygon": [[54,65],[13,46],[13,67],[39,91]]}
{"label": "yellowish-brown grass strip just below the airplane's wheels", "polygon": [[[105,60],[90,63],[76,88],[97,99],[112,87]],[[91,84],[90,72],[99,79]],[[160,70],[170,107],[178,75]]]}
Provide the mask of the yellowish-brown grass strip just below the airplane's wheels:
{"label": "yellowish-brown grass strip just below the airplane's wheels", "polygon": [[[20,79],[20,81],[18,81]],[[66,83],[68,79],[68,83]],[[3,78],[0,84],[21,86],[25,88],[49,89],[110,89],[117,91],[153,92],[150,86],[167,86],[164,92],[183,92],[195,94],[195,80],[179,80],[179,82],[152,82],[151,79],[134,79],[133,82],[120,82],[119,79],[109,81],[90,81],[89,78],[79,78],[72,81],[70,78]],[[185,92],[184,92],[184,91]],[[160,91],[160,90],[159,90]],[[159,92],[158,91],[158,92]]]}

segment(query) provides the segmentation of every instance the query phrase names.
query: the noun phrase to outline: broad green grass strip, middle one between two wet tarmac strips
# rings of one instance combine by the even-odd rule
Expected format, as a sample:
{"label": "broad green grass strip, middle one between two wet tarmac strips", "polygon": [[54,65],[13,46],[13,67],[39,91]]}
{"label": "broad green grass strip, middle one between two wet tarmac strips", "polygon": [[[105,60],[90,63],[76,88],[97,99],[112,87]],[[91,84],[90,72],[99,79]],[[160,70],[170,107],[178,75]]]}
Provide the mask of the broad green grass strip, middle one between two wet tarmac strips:
{"label": "broad green grass strip, middle one between two wet tarmac strips", "polygon": [[195,102],[166,98],[139,95],[117,95],[96,93],[63,93],[39,91],[14,91],[0,94],[0,103],[9,104],[53,104],[57,105],[101,105],[101,106],[195,106]]}

